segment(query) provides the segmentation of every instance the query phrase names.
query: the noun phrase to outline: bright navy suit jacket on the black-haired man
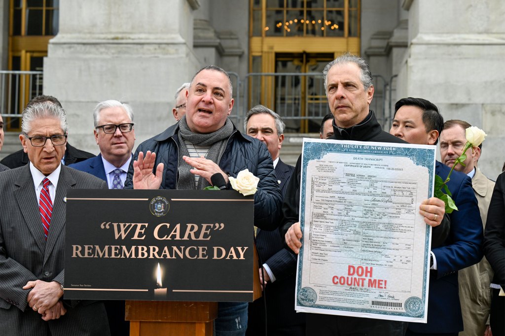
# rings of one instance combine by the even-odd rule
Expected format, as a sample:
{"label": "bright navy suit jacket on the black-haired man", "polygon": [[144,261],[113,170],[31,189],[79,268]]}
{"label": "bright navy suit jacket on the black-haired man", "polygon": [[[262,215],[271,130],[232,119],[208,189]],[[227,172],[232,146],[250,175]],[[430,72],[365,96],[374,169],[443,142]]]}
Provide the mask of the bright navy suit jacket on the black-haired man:
{"label": "bright navy suit jacket on the black-haired man", "polygon": [[[445,180],[450,168],[436,162],[435,174]],[[478,263],[483,256],[482,219],[472,180],[453,171],[447,186],[458,211],[449,214],[450,232],[445,243],[432,250],[437,270],[430,271],[428,323],[409,323],[419,333],[450,333],[463,330],[458,295],[458,270]]]}

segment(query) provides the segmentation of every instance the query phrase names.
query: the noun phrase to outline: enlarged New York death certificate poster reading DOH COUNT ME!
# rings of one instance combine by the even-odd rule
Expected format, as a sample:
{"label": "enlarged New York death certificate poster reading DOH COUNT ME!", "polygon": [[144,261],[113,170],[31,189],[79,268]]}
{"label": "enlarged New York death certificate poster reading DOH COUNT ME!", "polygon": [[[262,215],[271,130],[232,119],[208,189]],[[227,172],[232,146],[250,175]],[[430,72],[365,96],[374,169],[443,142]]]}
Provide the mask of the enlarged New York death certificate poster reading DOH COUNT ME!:
{"label": "enlarged New York death certificate poster reading DOH COUNT ME!", "polygon": [[435,148],[304,139],[297,311],[426,323]]}

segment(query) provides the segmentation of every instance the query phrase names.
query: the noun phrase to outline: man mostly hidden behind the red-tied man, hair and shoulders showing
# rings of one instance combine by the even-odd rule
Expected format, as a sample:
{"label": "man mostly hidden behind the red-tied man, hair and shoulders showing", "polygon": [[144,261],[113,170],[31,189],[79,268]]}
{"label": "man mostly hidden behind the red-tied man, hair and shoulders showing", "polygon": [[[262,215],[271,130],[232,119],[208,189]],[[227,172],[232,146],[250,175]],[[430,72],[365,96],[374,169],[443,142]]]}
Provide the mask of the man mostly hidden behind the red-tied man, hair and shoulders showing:
{"label": "man mostly hidden behind the red-tied man, hair and shoulders showing", "polygon": [[[47,95],[39,95],[34,97],[32,100],[28,102],[26,107],[29,105],[35,104],[35,103],[42,103],[42,102],[48,102],[48,103],[53,103],[56,104],[60,107],[62,107],[62,104],[58,99],[56,99],[53,96],[47,96]],[[63,107],[62,107],[63,108]],[[1,142],[1,141],[0,141]],[[77,149],[73,146],[71,146],[68,142],[66,144],[66,151],[64,152],[63,158],[62,158],[62,163],[65,165],[69,165],[75,162],[80,162],[82,160],[87,159],[88,157],[93,157],[95,156],[94,154],[85,152],[83,150]],[[0,148],[1,149],[1,148]],[[14,169],[17,167],[21,167],[23,165],[26,165],[29,162],[28,155],[23,149],[20,149],[14,153],[11,153],[4,157],[0,163],[5,164],[8,166],[10,169]]]}

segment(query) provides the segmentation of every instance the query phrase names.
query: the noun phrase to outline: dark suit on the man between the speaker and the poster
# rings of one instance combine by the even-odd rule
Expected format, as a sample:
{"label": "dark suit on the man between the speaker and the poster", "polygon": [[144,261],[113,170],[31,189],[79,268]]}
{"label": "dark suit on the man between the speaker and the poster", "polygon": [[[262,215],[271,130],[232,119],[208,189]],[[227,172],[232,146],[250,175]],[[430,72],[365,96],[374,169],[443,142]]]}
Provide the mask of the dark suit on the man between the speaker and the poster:
{"label": "dark suit on the man between the speaker and the poster", "polygon": [[[288,165],[279,158],[275,166],[275,175],[281,189],[282,196],[286,192],[291,174],[292,165]],[[297,314],[294,310],[294,292],[296,277],[297,256],[284,248],[284,243],[279,230],[265,231],[258,229],[256,248],[261,262],[266,263],[272,270],[276,280],[265,287],[265,297],[249,304],[249,325],[254,322],[263,332],[264,328],[264,303],[266,298],[267,322],[272,326],[291,326],[305,323],[305,316]]]}

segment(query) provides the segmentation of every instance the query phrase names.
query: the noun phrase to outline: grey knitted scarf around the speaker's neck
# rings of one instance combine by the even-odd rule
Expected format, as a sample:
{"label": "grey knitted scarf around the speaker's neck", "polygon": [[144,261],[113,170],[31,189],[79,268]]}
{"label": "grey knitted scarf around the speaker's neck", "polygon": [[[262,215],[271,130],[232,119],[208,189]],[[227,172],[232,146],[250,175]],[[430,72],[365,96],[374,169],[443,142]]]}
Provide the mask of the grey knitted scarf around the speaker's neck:
{"label": "grey knitted scarf around the speaker's neck", "polygon": [[227,118],[226,123],[223,127],[213,133],[199,134],[193,133],[186,123],[186,116],[183,116],[179,121],[179,164],[177,172],[179,174],[179,179],[177,180],[177,189],[179,190],[193,190],[193,189],[204,189],[211,184],[204,178],[200,177],[198,179],[198,187],[195,187],[194,175],[189,171],[192,167],[184,162],[182,159],[183,155],[189,156],[188,149],[184,144],[186,140],[193,145],[200,146],[211,146],[207,152],[207,159],[212,160],[214,163],[219,164],[218,160],[223,155],[226,148],[226,142],[228,138],[233,133],[233,123]]}

